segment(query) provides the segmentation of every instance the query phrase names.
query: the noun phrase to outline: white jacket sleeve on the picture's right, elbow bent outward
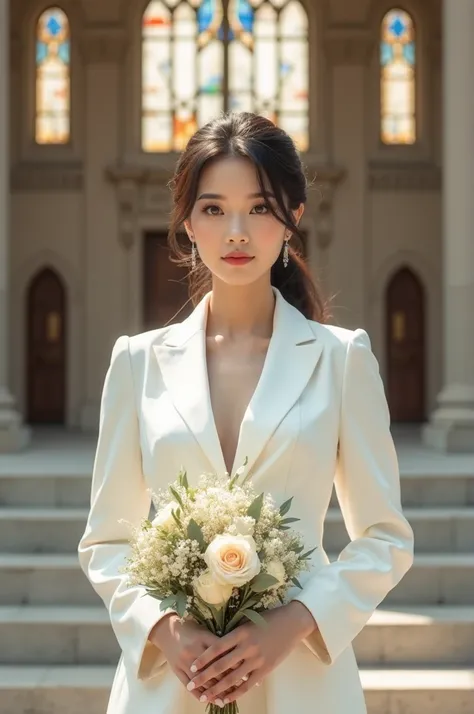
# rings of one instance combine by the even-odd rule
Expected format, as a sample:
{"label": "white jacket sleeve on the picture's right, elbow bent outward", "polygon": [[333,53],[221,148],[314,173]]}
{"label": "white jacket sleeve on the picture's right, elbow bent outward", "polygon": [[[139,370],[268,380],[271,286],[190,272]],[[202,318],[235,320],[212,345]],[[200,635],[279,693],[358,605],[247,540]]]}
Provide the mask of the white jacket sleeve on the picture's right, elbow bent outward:
{"label": "white jacket sleeve on the picture's right, elbow bent outward", "polygon": [[294,598],[313,615],[317,628],[305,643],[325,664],[352,643],[413,563],[387,401],[364,330],[347,345],[335,487],[351,542]]}

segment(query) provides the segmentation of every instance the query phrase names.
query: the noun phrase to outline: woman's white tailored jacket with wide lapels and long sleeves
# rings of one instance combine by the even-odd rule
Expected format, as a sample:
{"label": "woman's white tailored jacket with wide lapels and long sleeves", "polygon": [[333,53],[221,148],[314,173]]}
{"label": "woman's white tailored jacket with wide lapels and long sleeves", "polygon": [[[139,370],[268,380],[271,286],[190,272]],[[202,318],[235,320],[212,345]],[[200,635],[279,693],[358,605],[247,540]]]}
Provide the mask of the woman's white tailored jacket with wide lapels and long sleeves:
{"label": "woman's white tailored jacket with wide lapels and long sleeves", "polygon": [[[274,330],[257,389],[240,428],[234,472],[292,516],[312,569],[293,595],[319,628],[240,700],[241,714],[365,714],[351,643],[413,561],[402,514],[397,458],[378,364],[363,330],[307,320],[278,290]],[[102,396],[91,509],[81,566],[107,606],[122,657],[110,714],[204,714],[148,635],[159,602],[128,588],[120,569],[129,547],[121,519],[148,516],[149,489],[166,488],[184,466],[192,483],[225,472],[212,415],[205,330],[209,295],[180,324],[120,337]],[[335,484],[351,542],[335,562],[322,547]]]}

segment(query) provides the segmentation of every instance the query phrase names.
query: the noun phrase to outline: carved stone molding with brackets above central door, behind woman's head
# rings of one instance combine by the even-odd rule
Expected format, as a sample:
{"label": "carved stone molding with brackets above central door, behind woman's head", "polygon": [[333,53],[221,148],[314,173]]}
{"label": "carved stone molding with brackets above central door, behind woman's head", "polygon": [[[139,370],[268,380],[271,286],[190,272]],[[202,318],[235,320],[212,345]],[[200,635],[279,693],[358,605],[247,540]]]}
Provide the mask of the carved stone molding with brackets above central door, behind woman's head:
{"label": "carved stone molding with brackets above central door, behind woman's head", "polygon": [[[333,233],[334,194],[345,171],[327,163],[313,162],[306,163],[306,169],[310,178],[315,177],[311,185],[318,193],[315,204],[316,236],[319,247],[325,249]],[[172,176],[173,171],[165,165],[149,167],[121,164],[106,169],[106,177],[116,186],[119,240],[126,250],[133,246],[139,216],[170,211],[168,183]]]}

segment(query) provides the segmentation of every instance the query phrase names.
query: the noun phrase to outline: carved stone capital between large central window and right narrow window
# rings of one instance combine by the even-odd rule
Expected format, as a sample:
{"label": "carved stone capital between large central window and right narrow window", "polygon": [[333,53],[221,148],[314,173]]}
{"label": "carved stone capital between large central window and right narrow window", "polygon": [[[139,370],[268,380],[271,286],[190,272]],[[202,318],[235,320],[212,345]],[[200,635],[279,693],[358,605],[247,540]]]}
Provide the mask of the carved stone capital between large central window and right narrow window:
{"label": "carved stone capital between large central window and right narrow window", "polygon": [[376,38],[366,29],[333,28],[324,37],[332,65],[369,65],[376,46]]}

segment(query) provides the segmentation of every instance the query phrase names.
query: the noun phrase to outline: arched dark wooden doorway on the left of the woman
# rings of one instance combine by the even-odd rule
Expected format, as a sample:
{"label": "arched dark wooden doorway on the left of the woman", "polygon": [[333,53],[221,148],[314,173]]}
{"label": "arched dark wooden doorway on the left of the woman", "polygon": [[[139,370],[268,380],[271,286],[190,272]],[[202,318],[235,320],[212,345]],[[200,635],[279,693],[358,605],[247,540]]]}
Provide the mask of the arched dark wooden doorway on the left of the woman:
{"label": "arched dark wooden doorway on the left of the woman", "polygon": [[27,296],[27,382],[30,424],[64,424],[66,417],[66,294],[45,268]]}

